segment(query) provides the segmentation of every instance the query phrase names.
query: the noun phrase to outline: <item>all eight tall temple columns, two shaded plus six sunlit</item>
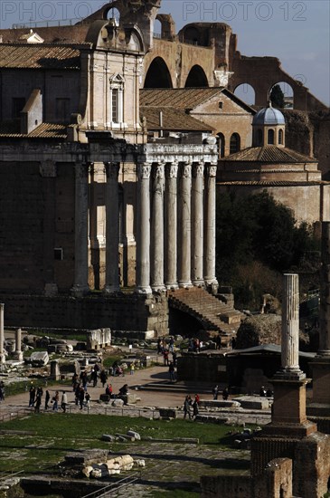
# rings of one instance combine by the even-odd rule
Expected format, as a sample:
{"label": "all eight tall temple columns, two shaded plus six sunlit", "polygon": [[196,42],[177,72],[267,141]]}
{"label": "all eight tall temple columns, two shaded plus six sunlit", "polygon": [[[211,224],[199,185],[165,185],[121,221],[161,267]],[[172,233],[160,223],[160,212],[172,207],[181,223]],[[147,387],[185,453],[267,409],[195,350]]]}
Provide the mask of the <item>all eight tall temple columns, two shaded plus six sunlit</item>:
{"label": "all eight tall temple columns, two shaded plus six sunlit", "polygon": [[[106,276],[104,292],[119,290],[118,163],[105,163]],[[89,165],[75,164],[75,273],[72,293],[89,292]],[[137,164],[137,279],[139,293],[216,284],[216,166]]]}

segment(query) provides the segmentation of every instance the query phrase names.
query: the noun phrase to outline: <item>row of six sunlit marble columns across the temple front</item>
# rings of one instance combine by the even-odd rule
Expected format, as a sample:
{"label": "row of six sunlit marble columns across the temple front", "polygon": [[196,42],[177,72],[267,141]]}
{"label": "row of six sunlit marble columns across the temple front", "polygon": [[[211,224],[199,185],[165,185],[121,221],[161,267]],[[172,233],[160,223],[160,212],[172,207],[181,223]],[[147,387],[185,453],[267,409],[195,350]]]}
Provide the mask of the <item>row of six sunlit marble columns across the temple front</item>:
{"label": "row of six sunlit marble columns across the temple front", "polygon": [[137,166],[137,292],[216,284],[216,167]]}

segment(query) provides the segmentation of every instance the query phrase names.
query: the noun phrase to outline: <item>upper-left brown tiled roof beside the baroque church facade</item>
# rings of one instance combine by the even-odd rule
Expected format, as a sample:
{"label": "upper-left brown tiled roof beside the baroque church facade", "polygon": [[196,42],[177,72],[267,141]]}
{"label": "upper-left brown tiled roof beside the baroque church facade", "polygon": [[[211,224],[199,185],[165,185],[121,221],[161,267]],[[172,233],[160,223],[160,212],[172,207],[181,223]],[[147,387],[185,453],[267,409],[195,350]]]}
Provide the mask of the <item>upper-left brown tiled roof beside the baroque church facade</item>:
{"label": "upper-left brown tiled roof beside the baroque church facade", "polygon": [[1,68],[80,69],[80,51],[44,43],[0,44]]}

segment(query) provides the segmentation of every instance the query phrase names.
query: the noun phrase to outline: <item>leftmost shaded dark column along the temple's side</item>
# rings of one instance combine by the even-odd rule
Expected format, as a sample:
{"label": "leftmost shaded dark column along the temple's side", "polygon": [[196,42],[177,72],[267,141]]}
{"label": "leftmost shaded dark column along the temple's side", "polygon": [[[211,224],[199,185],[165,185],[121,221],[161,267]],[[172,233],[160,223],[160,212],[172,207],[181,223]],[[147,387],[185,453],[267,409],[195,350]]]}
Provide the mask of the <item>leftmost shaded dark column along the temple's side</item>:
{"label": "leftmost shaded dark column along the temple's side", "polygon": [[74,283],[73,295],[79,297],[90,291],[88,260],[88,163],[76,162],[74,214]]}

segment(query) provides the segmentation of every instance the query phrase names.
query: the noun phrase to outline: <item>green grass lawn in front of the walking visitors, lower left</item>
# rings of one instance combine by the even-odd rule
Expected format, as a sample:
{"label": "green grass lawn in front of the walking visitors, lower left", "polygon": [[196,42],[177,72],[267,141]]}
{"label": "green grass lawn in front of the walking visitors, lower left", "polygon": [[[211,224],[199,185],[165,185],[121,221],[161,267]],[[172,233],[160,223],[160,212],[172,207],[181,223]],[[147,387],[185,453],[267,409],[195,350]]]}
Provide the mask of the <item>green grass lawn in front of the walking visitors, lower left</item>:
{"label": "green grass lawn in front of the walking visitors, lower left", "polygon": [[[241,427],[201,424],[182,419],[168,422],[58,413],[31,414],[5,422],[0,429],[1,470],[24,470],[25,473],[35,474],[49,471],[71,451],[82,448],[109,449],[109,443],[100,439],[103,434],[126,434],[127,430],[132,429],[141,436],[159,439],[198,437],[201,445],[217,445],[221,451],[230,445],[229,431],[241,430]],[[135,445],[139,444],[136,441]],[[112,443],[111,450],[125,450],[125,443]]]}

